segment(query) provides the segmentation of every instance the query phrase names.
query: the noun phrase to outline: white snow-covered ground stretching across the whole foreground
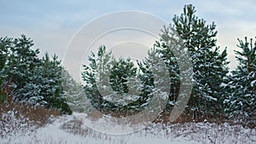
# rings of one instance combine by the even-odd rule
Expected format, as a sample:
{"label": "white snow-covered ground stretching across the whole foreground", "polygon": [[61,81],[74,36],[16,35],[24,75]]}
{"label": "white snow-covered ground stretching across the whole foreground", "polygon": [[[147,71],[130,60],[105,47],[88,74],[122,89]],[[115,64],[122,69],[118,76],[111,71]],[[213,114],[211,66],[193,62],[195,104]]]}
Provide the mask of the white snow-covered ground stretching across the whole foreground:
{"label": "white snow-covered ground stretching across the whole foreground", "polygon": [[[30,128],[32,129],[32,128]],[[256,130],[229,124],[189,123],[151,124],[131,135],[107,135],[87,129],[78,118],[62,116],[43,128],[21,130],[1,137],[2,144],[192,144],[192,143],[256,143]]]}

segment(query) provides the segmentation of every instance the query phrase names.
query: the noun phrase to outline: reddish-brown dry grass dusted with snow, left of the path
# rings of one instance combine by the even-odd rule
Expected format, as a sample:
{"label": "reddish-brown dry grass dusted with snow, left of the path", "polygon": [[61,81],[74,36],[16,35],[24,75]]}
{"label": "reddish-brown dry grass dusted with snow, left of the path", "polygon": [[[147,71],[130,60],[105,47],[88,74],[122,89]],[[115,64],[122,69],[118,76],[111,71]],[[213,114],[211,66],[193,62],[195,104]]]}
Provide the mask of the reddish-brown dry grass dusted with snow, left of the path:
{"label": "reddish-brown dry grass dusted with snow, left of the path", "polygon": [[44,126],[49,123],[50,117],[59,115],[60,112],[56,110],[22,105],[18,102],[4,102],[0,104],[0,137]]}

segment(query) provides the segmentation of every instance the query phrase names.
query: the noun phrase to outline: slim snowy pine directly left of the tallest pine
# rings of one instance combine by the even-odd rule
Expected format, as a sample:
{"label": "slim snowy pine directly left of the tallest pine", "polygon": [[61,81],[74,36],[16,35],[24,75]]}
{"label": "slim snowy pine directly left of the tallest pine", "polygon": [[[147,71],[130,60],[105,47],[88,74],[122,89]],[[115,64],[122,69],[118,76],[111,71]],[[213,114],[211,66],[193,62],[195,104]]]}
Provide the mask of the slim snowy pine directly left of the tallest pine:
{"label": "slim snowy pine directly left of the tallest pine", "polygon": [[[143,84],[142,106],[148,106],[148,111],[162,112],[169,98],[170,83],[168,66],[155,47],[148,50],[148,57],[139,63],[142,70],[141,81]],[[160,109],[159,109],[160,108]],[[157,113],[160,114],[160,113]]]}

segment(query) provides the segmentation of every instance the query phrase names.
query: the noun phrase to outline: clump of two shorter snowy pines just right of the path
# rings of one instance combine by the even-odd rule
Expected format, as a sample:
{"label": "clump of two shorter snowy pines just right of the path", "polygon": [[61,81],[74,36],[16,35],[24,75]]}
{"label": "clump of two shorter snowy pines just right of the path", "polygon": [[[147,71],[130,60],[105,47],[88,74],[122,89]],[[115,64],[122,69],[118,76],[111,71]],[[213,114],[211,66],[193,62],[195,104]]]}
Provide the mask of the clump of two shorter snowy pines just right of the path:
{"label": "clump of two shorter snowy pines just right of the path", "polygon": [[93,107],[103,112],[137,111],[140,98],[140,82],[137,67],[130,59],[113,59],[104,46],[97,56],[91,53],[90,64],[84,65],[84,91]]}

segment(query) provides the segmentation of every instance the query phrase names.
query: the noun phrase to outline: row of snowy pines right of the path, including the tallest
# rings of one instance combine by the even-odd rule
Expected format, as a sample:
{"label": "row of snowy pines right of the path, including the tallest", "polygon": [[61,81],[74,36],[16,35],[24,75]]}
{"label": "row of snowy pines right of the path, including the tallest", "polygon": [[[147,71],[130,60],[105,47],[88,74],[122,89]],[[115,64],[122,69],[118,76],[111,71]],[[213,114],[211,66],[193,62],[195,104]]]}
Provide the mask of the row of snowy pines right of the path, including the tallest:
{"label": "row of snowy pines right of the path, including the tallest", "polygon": [[[156,84],[150,65],[159,58],[164,60],[169,72],[170,83],[166,87],[170,92],[165,112],[171,112],[181,84],[173,50],[177,49],[175,43],[181,41],[193,66],[193,89],[184,112],[193,119],[207,115],[209,118],[225,117],[244,124],[256,124],[256,42],[247,37],[238,39],[236,59],[239,64],[230,72],[227,49],[221,51],[216,44],[214,23],[207,24],[206,20],[198,18],[192,5],[186,5],[183,13],[175,15],[172,20],[170,26],[165,26],[160,33],[160,41],[148,51],[148,58],[137,61],[137,66],[130,59],[115,60],[104,46],[97,54],[90,55],[90,64],[84,66],[82,75],[85,94],[90,97],[91,104],[107,113],[143,111],[154,95]],[[160,69],[162,67],[158,67]],[[135,83],[129,84],[131,81]],[[122,99],[111,97],[118,95],[123,95]]]}

